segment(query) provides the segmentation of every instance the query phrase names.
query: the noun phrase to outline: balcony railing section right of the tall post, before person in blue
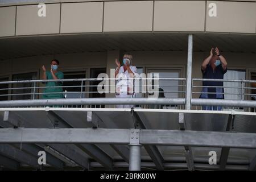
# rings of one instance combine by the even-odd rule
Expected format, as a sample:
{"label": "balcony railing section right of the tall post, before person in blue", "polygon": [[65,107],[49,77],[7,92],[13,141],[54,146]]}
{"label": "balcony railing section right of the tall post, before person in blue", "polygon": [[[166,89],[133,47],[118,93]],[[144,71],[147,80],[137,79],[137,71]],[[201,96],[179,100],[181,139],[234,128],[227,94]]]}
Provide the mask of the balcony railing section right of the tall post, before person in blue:
{"label": "balcony railing section right of the tall post, before person in blue", "polygon": [[[203,86],[203,82],[223,82],[223,86]],[[222,110],[237,110],[237,111],[251,111],[255,112],[256,107],[256,88],[251,84],[256,83],[255,80],[220,80],[220,79],[192,79],[192,105],[193,109],[205,110],[204,106],[221,106]],[[220,88],[224,92],[204,92],[206,94],[223,94],[224,100],[212,99],[199,99],[203,94],[202,89],[207,88]],[[213,107],[207,107],[213,108]]]}

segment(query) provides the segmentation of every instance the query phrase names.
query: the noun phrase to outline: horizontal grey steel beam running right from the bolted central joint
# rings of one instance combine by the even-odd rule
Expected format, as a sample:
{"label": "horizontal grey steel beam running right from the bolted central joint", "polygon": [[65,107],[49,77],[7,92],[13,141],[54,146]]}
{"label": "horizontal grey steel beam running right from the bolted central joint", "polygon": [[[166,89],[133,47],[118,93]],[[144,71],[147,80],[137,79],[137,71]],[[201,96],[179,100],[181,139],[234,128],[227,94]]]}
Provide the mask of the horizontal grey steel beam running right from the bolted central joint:
{"label": "horizontal grey steel beam running right from the bolted central joint", "polygon": [[256,148],[254,133],[225,133],[217,131],[141,130],[141,144]]}

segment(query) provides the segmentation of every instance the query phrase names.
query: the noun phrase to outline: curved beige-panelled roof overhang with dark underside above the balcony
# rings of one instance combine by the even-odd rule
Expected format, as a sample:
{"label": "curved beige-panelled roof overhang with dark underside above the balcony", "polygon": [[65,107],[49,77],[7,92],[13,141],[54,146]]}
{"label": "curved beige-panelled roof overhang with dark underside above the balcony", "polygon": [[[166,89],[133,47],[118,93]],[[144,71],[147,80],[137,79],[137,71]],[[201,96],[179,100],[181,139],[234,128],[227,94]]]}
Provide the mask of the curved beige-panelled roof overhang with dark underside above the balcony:
{"label": "curved beige-panelled roof overhang with dark underside above the balcony", "polygon": [[[0,1],[0,59],[73,52],[255,53],[256,1]],[[46,3],[46,16],[39,2]]]}

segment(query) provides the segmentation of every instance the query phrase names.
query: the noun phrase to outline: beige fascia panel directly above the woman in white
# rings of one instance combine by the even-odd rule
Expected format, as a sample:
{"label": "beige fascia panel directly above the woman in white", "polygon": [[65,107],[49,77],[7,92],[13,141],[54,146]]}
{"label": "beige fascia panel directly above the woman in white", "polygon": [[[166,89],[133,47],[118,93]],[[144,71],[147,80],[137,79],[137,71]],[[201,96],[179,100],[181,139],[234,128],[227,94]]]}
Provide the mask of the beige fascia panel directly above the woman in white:
{"label": "beige fascia panel directly above the woman in white", "polygon": [[153,1],[105,2],[104,31],[152,31]]}

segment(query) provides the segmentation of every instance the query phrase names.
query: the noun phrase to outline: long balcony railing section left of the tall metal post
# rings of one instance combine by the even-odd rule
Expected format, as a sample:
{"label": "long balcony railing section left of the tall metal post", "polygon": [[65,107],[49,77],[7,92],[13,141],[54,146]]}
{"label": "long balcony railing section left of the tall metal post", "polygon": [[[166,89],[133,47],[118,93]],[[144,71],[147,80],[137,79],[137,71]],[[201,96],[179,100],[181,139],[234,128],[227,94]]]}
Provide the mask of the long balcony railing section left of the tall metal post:
{"label": "long balcony railing section left of the tall metal post", "polygon": [[[99,85],[104,81],[104,85]],[[132,82],[128,85],[130,98],[115,98],[122,93],[118,83]],[[184,109],[185,78],[80,78],[62,80],[20,80],[0,82],[0,107],[113,107],[129,104],[147,109]],[[46,86],[46,82],[62,82],[59,86]],[[155,82],[155,83],[154,83]],[[125,83],[122,84],[125,86]],[[117,86],[117,88],[115,88]],[[108,88],[104,93],[98,88]],[[111,88],[112,87],[112,88]],[[61,88],[62,92],[44,93],[47,88]],[[131,93],[130,93],[131,92]],[[157,93],[158,96],[154,94]],[[63,94],[64,98],[43,99],[44,95]],[[149,99],[150,98],[150,99]]]}

